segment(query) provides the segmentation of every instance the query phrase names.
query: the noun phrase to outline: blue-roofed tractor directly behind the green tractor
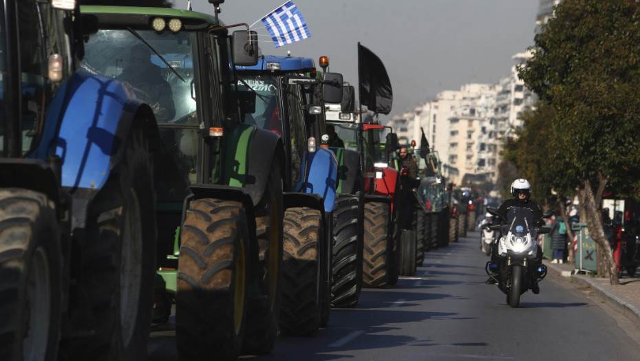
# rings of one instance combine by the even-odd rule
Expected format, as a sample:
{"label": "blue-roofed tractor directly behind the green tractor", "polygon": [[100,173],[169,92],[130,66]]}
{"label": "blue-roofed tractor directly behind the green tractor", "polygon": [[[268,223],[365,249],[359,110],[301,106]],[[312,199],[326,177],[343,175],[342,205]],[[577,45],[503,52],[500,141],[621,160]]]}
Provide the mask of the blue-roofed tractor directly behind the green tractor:
{"label": "blue-roofed tractor directly behind the green tractor", "polygon": [[244,122],[277,133],[285,153],[281,333],[312,335],[331,307],[332,212],[337,160],[319,146],[324,102],[342,98],[342,76],[316,78],[310,58],[259,56],[236,66]]}

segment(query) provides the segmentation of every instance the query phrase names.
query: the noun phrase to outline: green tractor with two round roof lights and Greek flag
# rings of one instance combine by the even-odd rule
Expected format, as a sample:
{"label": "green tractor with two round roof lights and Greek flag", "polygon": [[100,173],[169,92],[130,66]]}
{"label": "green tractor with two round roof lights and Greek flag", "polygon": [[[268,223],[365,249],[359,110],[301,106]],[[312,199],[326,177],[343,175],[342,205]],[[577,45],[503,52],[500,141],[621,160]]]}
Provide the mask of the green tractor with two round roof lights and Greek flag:
{"label": "green tractor with two round roof lights and Greek flag", "polygon": [[[246,24],[224,25],[224,1],[210,2],[213,17],[82,8],[99,21],[85,45],[86,71],[127,81],[158,119],[153,315],[167,322],[175,300],[186,360],[269,353],[281,299],[284,144],[243,122],[234,65],[257,63],[256,35]],[[246,29],[231,34],[237,27]]]}

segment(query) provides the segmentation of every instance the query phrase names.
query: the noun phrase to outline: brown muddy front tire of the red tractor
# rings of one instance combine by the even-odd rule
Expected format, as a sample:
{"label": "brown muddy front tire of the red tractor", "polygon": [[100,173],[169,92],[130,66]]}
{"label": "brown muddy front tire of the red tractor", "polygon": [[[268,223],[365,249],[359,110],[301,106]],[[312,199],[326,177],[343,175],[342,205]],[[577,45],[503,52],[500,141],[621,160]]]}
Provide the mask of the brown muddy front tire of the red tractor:
{"label": "brown muddy front tire of the red tractor", "polygon": [[392,254],[389,212],[390,207],[387,203],[365,203],[363,287],[378,288],[387,285],[389,276],[387,258]]}

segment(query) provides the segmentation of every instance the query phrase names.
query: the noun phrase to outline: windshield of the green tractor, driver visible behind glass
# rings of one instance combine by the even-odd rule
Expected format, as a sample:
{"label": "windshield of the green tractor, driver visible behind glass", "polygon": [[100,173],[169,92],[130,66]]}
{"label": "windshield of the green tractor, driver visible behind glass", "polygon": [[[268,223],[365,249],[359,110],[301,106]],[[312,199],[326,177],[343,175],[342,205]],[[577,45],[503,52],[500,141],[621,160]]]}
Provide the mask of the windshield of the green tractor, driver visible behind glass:
{"label": "windshield of the green tractor, driver visible behind glass", "polygon": [[81,69],[129,83],[151,105],[158,124],[198,124],[195,43],[193,32],[100,30],[85,45]]}

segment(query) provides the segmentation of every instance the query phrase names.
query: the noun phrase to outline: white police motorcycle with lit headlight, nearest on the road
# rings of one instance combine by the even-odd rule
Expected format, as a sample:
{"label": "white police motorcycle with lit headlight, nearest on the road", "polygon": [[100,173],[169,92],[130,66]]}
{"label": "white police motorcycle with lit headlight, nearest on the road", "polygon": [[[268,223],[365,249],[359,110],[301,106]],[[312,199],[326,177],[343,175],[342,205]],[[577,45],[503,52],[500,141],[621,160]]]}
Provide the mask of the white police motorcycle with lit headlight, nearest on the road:
{"label": "white police motorcycle with lit headlight, nearest on the road", "polygon": [[[487,212],[498,217],[498,210],[487,208]],[[543,218],[551,217],[547,212]],[[489,226],[500,231],[498,244],[493,252],[500,255],[499,262],[487,262],[484,270],[498,283],[498,288],[506,294],[506,303],[511,307],[520,305],[520,295],[531,289],[546,276],[546,266],[535,265],[539,256],[537,234],[548,233],[548,228],[535,226],[533,211],[529,208],[511,208],[502,224]],[[540,255],[542,256],[542,255]]]}

